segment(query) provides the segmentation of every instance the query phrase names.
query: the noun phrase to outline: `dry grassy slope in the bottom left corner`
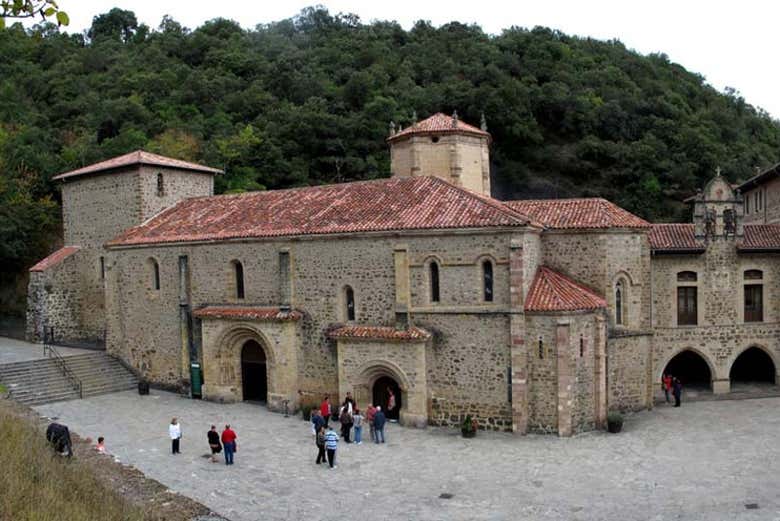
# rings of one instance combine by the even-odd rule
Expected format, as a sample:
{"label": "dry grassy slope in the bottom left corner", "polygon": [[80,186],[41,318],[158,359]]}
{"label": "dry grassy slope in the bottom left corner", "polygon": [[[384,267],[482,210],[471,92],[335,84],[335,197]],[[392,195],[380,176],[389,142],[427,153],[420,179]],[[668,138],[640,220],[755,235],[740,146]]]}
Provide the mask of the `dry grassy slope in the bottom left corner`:
{"label": "dry grassy slope in the bottom left corner", "polygon": [[98,481],[77,458],[49,448],[43,432],[0,400],[0,519],[142,520],[142,513]]}

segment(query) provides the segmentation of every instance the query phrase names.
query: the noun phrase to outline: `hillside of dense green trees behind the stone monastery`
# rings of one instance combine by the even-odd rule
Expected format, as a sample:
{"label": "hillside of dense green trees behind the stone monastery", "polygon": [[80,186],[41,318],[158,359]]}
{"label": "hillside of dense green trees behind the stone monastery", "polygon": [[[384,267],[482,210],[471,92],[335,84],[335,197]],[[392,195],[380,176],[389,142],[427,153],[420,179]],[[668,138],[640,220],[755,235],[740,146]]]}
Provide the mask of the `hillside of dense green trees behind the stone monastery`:
{"label": "hillside of dense green trees behind the stone monastery", "polygon": [[0,30],[6,285],[52,246],[58,172],[144,148],[224,168],[220,192],[383,177],[391,120],[453,109],[484,112],[502,198],[600,195],[670,220],[716,166],[738,180],[780,160],[778,123],[738,94],[545,28],[406,31],[318,8],[248,31],[119,9],[84,35],[15,25]]}

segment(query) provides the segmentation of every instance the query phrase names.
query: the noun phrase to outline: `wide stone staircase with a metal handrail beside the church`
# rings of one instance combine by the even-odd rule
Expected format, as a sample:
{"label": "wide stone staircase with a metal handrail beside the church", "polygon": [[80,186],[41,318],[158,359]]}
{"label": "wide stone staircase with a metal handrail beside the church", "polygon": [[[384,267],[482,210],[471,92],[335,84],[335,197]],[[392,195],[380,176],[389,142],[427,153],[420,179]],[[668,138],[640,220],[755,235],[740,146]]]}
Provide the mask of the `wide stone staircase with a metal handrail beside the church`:
{"label": "wide stone staircase with a metal handrail beside the church", "polygon": [[[138,379],[104,351],[63,357],[71,373],[81,381],[84,398],[134,389]],[[80,398],[72,379],[54,358],[0,364],[0,383],[11,398],[27,405]]]}

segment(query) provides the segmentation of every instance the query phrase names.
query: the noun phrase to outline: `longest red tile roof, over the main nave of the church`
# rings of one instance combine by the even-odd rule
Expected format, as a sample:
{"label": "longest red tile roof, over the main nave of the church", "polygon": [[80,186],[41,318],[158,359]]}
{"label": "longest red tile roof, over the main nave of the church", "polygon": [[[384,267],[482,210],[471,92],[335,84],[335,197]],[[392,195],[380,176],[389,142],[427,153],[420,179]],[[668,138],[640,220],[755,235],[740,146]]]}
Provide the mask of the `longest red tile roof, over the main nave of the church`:
{"label": "longest red tile roof, over the main nave of the church", "polygon": [[108,246],[528,223],[495,199],[426,176],[186,199]]}

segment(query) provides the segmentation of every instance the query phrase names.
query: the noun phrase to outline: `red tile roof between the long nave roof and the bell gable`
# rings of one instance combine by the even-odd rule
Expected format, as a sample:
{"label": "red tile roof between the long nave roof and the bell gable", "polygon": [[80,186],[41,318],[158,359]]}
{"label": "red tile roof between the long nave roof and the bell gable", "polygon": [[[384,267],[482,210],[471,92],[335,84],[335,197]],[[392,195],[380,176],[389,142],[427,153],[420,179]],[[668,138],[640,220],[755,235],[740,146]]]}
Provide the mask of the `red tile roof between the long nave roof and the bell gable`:
{"label": "red tile roof between the long nave roof and the bell gable", "polygon": [[529,199],[504,204],[553,229],[648,228],[650,223],[606,199]]}

